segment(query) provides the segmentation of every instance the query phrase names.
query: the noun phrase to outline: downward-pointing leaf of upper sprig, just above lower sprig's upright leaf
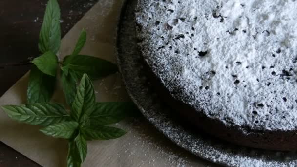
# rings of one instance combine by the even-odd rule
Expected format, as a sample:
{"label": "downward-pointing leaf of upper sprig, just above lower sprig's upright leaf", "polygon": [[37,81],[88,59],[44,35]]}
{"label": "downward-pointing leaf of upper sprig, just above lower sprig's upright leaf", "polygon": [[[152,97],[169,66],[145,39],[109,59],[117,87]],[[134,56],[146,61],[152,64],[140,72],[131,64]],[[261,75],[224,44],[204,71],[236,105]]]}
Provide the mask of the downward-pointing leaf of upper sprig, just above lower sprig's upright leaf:
{"label": "downward-pointing leaf of upper sprig, just above lower sprig's upright leaf", "polygon": [[75,78],[71,75],[71,72],[68,75],[65,74],[65,72],[62,73],[62,87],[63,87],[63,92],[65,95],[66,102],[69,106],[72,105],[75,96],[76,96],[76,81]]}

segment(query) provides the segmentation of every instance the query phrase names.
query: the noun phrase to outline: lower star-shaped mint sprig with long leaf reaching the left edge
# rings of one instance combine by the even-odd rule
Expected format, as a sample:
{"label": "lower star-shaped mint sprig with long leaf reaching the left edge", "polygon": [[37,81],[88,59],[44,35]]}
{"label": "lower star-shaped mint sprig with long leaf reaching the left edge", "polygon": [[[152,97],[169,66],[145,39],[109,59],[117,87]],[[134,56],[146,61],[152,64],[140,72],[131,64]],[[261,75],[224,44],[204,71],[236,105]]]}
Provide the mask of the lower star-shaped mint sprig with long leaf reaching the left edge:
{"label": "lower star-shaped mint sprig with long leaf reaching the left edge", "polygon": [[80,167],[84,162],[87,140],[110,140],[125,135],[124,130],[106,125],[118,123],[137,110],[131,102],[96,103],[93,84],[86,74],[77,87],[70,111],[53,103],[6,105],[2,109],[14,120],[44,126],[40,131],[45,135],[68,139],[68,167]]}

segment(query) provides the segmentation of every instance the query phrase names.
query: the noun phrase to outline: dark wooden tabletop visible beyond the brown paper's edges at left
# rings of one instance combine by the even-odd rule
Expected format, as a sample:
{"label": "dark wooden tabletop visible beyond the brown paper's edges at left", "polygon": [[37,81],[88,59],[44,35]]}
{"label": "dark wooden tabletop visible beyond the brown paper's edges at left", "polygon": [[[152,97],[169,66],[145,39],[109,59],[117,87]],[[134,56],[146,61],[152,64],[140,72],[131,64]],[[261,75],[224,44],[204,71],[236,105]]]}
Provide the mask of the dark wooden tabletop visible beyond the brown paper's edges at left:
{"label": "dark wooden tabletop visible beyond the brown paper's edges at left", "polygon": [[[64,36],[98,0],[58,0]],[[0,96],[29,69],[21,65],[39,56],[38,38],[47,0],[0,0]],[[0,142],[0,167],[40,167]]]}

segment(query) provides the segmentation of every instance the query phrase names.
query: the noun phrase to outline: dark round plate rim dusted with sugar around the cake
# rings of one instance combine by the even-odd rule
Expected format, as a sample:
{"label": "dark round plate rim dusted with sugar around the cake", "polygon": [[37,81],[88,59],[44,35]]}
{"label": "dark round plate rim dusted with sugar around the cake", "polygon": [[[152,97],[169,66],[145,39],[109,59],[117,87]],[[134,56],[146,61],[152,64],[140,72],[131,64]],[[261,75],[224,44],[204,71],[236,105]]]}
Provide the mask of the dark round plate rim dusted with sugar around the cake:
{"label": "dark round plate rim dusted with sugar around the cake", "polygon": [[[137,0],[126,0],[117,31],[117,60],[124,84],[142,114],[176,145],[216,164],[231,167],[297,167],[296,152],[266,151],[236,146],[192,131],[170,112],[144,72],[137,46],[134,12]],[[170,114],[171,113],[171,114]]]}

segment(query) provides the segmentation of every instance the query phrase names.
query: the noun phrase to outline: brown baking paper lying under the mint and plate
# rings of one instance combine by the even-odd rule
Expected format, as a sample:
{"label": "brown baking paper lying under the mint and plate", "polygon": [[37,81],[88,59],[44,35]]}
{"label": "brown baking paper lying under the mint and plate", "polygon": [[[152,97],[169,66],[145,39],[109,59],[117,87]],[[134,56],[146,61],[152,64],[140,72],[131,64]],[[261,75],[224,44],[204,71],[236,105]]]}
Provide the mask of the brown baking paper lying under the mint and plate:
{"label": "brown baking paper lying under the mint and plate", "polygon": [[[88,40],[82,54],[101,57],[116,63],[115,34],[123,0],[99,0],[62,41],[61,54],[70,54],[83,28]],[[63,10],[63,9],[62,9]],[[62,59],[62,57],[60,57]],[[28,74],[1,98],[0,105],[26,102]],[[59,90],[54,102],[64,103]],[[94,83],[97,101],[129,101],[120,74]],[[119,139],[88,142],[83,167],[205,167],[211,164],[175,146],[144,118],[127,119],[118,124],[127,131]],[[44,167],[65,167],[67,143],[39,132],[39,126],[25,125],[0,112],[0,140]],[[211,165],[213,166],[213,165]]]}

